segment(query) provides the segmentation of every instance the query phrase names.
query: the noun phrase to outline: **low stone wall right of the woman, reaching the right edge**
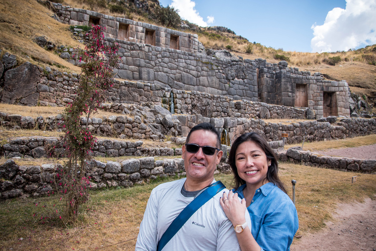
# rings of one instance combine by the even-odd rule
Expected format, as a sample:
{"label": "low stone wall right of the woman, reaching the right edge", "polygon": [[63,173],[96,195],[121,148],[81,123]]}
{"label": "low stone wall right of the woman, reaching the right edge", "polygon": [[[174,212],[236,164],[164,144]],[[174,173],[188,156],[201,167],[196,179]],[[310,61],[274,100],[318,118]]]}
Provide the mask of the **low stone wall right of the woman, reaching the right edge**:
{"label": "low stone wall right of the woman, reaching the right edge", "polygon": [[331,157],[310,151],[288,149],[278,153],[279,160],[291,161],[303,165],[339,169],[341,171],[356,171],[373,173],[376,171],[376,160],[364,160],[346,157]]}

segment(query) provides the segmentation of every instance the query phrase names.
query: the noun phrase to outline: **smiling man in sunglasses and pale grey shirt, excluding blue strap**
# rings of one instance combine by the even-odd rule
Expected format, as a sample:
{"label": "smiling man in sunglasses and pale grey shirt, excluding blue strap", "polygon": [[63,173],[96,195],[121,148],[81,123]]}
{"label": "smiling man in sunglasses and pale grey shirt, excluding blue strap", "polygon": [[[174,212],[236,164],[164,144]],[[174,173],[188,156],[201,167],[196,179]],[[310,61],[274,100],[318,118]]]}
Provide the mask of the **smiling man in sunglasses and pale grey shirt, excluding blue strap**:
{"label": "smiling man in sunglasses and pale grey shirt, excluding blue strap", "polygon": [[[214,171],[223,154],[219,148],[220,137],[211,124],[199,124],[190,130],[182,149],[187,178],[153,189],[141,222],[136,251],[156,251],[171,222],[201,190],[215,182]],[[193,213],[163,251],[240,251],[234,227],[219,204],[224,192],[228,190],[221,190]]]}

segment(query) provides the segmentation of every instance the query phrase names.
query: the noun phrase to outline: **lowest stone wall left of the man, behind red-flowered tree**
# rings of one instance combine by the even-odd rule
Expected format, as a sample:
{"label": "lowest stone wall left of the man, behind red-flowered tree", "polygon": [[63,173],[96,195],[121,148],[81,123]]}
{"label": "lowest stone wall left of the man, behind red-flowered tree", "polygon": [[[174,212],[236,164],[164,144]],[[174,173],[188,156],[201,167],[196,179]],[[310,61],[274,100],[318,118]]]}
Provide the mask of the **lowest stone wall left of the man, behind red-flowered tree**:
{"label": "lowest stone wall left of the man, behind red-flowered tree", "polygon": [[[0,165],[0,198],[38,197],[49,195],[56,190],[53,184],[55,170],[62,168],[60,164],[44,164],[42,166],[18,166],[14,160],[7,160]],[[182,158],[154,160],[154,157],[127,159],[121,163],[96,160],[87,163],[87,176],[92,189],[105,187],[130,187],[142,183],[146,179],[159,176],[184,175]]]}

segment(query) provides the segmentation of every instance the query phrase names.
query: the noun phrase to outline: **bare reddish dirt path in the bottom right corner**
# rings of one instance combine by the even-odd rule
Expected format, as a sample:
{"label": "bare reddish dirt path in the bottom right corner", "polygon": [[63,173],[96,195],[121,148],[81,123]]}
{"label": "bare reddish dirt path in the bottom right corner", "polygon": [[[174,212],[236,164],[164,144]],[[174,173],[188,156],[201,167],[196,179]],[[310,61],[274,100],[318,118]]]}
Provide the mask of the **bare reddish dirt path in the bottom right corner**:
{"label": "bare reddish dirt path in the bottom right corner", "polygon": [[[376,197],[376,196],[375,196]],[[376,198],[375,198],[376,199]],[[315,234],[305,234],[291,251],[376,250],[376,200],[339,204],[335,221]]]}

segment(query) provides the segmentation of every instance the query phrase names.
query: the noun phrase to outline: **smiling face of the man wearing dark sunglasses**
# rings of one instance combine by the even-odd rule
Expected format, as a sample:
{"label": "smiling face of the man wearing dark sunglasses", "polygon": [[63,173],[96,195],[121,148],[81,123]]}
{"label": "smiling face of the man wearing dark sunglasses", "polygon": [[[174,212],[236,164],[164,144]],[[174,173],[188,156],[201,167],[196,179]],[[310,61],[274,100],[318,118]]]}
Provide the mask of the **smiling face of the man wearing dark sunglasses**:
{"label": "smiling face of the man wearing dark sunglasses", "polygon": [[[199,146],[211,146],[217,148],[217,138],[214,133],[206,130],[197,130],[190,134],[187,144],[196,144]],[[205,155],[200,148],[196,153],[191,153],[183,146],[182,157],[184,167],[187,172],[187,180],[195,182],[211,181],[217,163],[222,157],[223,152],[216,150],[214,155]]]}

